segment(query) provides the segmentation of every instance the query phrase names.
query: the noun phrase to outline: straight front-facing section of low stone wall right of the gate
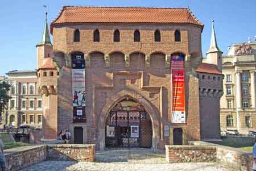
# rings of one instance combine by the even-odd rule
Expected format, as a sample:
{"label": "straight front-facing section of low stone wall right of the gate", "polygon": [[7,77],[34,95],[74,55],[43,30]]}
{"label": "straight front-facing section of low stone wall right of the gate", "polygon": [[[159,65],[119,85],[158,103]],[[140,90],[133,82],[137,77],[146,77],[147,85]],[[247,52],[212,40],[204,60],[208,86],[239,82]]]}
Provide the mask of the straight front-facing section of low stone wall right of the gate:
{"label": "straight front-facing section of low stone wall right of the gate", "polygon": [[216,147],[166,145],[168,162],[216,162]]}

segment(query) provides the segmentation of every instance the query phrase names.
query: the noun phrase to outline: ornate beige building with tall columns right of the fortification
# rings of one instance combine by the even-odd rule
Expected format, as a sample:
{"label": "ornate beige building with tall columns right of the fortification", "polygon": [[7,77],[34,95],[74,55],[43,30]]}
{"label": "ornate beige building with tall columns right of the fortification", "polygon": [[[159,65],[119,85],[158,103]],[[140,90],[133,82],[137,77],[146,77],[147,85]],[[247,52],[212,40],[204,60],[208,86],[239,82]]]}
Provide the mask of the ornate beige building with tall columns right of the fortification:
{"label": "ornate beige building with tall columns right of the fortification", "polygon": [[221,130],[256,130],[255,55],[256,42],[248,41],[233,44],[222,59]]}

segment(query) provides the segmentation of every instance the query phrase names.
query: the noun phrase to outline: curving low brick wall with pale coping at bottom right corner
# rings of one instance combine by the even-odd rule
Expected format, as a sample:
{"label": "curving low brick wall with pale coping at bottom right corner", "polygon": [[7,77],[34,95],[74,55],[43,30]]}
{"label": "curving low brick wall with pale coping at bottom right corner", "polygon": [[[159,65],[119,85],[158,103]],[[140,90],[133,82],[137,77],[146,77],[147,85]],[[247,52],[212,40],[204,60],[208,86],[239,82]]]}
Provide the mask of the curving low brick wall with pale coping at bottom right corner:
{"label": "curving low brick wall with pale coping at bottom right corner", "polygon": [[253,168],[253,153],[241,149],[227,147],[204,141],[189,141],[190,145],[211,145],[216,147],[217,162],[236,170],[251,170]]}

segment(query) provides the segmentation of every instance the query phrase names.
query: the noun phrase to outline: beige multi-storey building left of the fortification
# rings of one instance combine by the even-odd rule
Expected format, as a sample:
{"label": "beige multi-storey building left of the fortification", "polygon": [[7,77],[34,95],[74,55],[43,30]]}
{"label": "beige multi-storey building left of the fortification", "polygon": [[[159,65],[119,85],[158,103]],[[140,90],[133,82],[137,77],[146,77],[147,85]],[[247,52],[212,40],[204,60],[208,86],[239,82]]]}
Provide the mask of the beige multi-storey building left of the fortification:
{"label": "beige multi-storey building left of the fortification", "polygon": [[37,93],[36,70],[13,70],[7,73],[11,85],[7,113],[2,115],[2,124],[19,127],[28,124],[42,127],[42,98]]}

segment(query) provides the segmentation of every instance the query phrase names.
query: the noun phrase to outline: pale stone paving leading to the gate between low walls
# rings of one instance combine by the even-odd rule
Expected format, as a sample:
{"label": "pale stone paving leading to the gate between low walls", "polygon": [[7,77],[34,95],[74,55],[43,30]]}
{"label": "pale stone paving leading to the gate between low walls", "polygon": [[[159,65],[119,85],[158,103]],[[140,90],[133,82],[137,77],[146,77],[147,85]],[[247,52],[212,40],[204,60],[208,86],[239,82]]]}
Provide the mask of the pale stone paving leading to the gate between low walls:
{"label": "pale stone paving leading to the gate between low walls", "polygon": [[44,161],[22,171],[128,171],[128,170],[228,170],[217,163],[167,164],[164,151],[151,149],[108,149],[96,152],[96,162]]}

